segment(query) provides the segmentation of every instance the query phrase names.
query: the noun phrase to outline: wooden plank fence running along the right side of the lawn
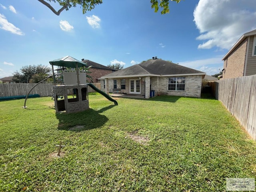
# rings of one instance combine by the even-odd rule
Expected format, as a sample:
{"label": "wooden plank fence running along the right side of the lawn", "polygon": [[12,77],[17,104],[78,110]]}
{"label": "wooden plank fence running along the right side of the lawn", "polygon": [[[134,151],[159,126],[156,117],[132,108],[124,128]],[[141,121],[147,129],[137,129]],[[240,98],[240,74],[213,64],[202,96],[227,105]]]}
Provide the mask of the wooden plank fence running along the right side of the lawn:
{"label": "wooden plank fence running along the right side of the lawn", "polygon": [[214,82],[215,97],[256,140],[256,75]]}

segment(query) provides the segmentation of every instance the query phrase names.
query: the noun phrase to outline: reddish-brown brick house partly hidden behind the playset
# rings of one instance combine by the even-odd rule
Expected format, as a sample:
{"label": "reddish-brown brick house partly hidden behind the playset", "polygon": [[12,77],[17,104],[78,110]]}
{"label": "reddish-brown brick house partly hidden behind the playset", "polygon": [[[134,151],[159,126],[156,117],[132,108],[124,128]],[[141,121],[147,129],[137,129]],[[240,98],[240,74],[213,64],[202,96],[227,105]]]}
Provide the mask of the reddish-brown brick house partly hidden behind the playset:
{"label": "reddish-brown brick house partly hidden behind the playset", "polygon": [[[96,62],[93,62],[87,59],[86,60],[82,59],[82,62],[86,63],[88,67],[91,66],[91,68],[89,69],[91,73],[88,73],[88,75],[90,75],[93,78],[94,83],[100,82],[98,78],[116,71],[115,69],[109,68],[107,66],[98,64]],[[88,81],[91,81],[91,80],[88,78]]]}

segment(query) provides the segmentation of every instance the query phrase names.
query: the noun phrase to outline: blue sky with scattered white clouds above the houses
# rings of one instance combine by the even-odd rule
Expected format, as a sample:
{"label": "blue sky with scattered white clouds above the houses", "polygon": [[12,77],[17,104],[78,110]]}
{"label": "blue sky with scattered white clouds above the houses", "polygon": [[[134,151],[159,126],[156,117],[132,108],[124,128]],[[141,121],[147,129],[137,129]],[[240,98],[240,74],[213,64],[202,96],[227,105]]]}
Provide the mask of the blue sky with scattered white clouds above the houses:
{"label": "blue sky with scattered white clouds above the houses", "polygon": [[37,0],[0,0],[0,78],[67,55],[124,68],[157,56],[212,75],[255,21],[255,0],[170,2],[165,15],[150,0],[103,0],[86,14],[77,6],[60,16]]}

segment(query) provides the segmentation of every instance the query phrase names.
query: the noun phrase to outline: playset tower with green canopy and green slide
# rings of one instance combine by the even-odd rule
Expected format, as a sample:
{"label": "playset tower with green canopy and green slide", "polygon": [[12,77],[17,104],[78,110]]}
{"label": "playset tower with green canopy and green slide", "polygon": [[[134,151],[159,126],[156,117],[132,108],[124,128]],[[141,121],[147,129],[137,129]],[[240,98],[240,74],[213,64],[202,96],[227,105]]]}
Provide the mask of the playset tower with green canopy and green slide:
{"label": "playset tower with green canopy and green slide", "polygon": [[[49,63],[52,65],[54,81],[52,89],[56,112],[72,113],[88,109],[88,86],[105,96],[108,100],[114,102],[115,105],[118,105],[116,100],[96,88],[93,84],[86,83],[86,72],[84,71],[84,67],[86,66],[85,63],[70,56],[53,60]],[[54,74],[53,66],[60,66],[63,68],[61,76]],[[80,70],[80,68],[82,68],[82,70]],[[56,85],[56,78],[60,80],[59,85]]]}

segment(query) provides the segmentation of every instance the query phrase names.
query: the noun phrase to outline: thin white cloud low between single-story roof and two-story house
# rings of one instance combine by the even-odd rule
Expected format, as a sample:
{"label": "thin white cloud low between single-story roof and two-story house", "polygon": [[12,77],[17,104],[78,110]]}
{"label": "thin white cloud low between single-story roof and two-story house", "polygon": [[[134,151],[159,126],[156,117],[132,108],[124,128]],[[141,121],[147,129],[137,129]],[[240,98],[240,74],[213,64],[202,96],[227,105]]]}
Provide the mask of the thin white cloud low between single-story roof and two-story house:
{"label": "thin white cloud low between single-story roof and two-story house", "polygon": [[221,57],[216,57],[216,58],[208,58],[208,59],[201,59],[201,60],[195,60],[195,61],[179,62],[179,64],[189,68],[198,68],[201,66],[212,65],[212,64],[223,65],[223,61],[221,60]]}

